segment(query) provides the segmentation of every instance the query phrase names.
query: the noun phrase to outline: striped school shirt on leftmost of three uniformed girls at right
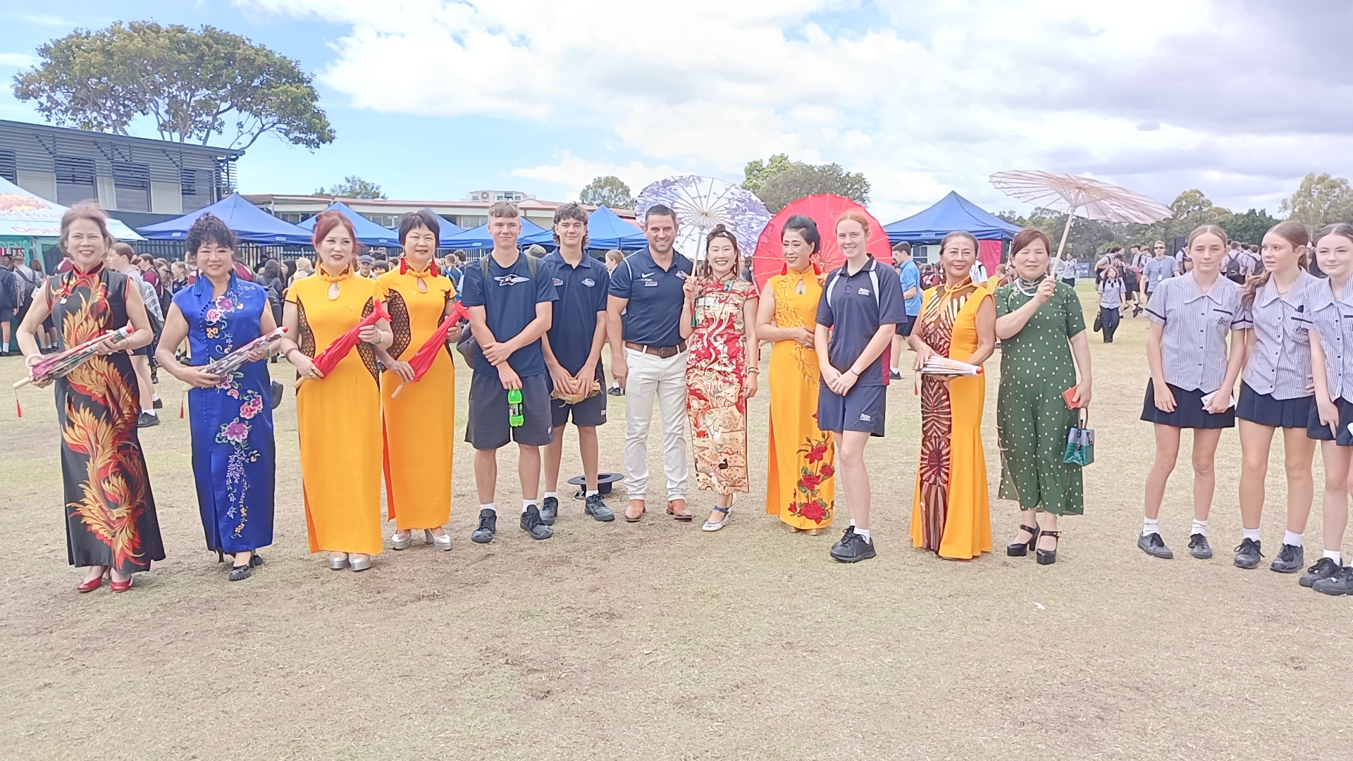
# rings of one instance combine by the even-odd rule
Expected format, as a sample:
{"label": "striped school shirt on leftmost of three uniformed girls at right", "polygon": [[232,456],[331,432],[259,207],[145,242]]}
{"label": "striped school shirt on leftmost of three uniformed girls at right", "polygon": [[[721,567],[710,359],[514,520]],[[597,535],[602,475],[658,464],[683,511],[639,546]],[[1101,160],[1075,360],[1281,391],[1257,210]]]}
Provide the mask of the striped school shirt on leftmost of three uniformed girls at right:
{"label": "striped school shirt on leftmost of three uniformed girls at right", "polygon": [[1146,317],[1164,325],[1161,368],[1165,382],[1185,391],[1216,391],[1226,379],[1226,337],[1249,328],[1241,287],[1216,278],[1204,294],[1192,272],[1157,286]]}

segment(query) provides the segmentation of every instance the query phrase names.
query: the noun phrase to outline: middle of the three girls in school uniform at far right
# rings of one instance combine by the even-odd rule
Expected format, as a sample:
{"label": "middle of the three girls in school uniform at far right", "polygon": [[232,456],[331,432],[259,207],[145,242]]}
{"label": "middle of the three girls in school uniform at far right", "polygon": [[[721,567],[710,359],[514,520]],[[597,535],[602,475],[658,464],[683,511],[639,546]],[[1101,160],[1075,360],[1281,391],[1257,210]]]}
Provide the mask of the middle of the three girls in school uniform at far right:
{"label": "middle of the three girls in school uniform at far right", "polygon": [[1235,566],[1260,565],[1260,516],[1264,512],[1264,477],[1268,474],[1273,432],[1283,429],[1287,466],[1287,534],[1269,567],[1296,573],[1306,565],[1302,534],[1311,515],[1315,482],[1311,458],[1315,440],[1306,424],[1315,409],[1311,375],[1308,292],[1321,284],[1306,271],[1310,236],[1304,225],[1280,222],[1264,236],[1264,269],[1241,290],[1245,332],[1245,372],[1235,417],[1241,418],[1241,525]]}

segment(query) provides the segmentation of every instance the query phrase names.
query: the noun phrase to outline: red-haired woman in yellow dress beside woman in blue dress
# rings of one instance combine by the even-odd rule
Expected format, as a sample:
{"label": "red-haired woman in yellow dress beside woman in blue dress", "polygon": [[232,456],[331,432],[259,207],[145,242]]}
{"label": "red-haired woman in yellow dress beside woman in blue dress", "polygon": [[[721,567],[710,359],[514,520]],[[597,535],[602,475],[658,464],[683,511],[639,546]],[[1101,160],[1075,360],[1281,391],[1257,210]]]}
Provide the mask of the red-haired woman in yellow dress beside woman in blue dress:
{"label": "red-haired woman in yellow dress beside woman in blue dress", "polygon": [[352,221],[325,211],[314,232],[319,267],[287,291],[280,348],[303,380],[296,428],[310,551],[327,551],[330,569],[360,571],[382,550],[376,348],[391,344],[391,332],[386,320],[363,328],[361,340],[333,370],[315,368],[311,359],[375,309],[376,282],[353,274]]}

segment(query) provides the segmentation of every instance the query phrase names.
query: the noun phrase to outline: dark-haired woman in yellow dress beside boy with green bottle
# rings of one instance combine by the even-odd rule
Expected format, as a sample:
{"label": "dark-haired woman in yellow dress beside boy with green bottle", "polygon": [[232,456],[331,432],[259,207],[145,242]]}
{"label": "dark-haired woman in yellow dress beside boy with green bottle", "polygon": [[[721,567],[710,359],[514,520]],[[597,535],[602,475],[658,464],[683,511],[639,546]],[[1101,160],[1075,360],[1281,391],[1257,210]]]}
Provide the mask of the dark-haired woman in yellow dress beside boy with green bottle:
{"label": "dark-haired woman in yellow dress beside boy with green bottle", "polygon": [[[413,531],[438,550],[451,550],[444,525],[451,520],[451,466],[456,437],[456,364],[451,349],[438,351],[417,383],[409,357],[418,352],[451,314],[456,286],[437,269],[441,225],[432,211],[405,214],[399,221],[399,264],[376,278],[376,298],[390,310],[394,345],[377,352],[388,368],[380,375],[386,417],[386,513],[395,521],[390,543],[405,550]],[[446,334],[460,337],[460,326]],[[395,395],[399,391],[399,395]]]}

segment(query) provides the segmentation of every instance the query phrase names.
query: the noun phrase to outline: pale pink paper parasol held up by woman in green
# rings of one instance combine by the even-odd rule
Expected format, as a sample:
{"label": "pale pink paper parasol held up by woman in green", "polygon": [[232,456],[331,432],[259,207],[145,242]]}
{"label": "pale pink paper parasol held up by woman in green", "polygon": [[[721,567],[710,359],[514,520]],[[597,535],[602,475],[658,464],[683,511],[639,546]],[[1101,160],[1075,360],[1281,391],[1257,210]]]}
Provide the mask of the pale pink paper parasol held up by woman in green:
{"label": "pale pink paper parasol held up by woman in green", "polygon": [[1077,175],[1012,171],[997,172],[990,180],[996,190],[1011,198],[1066,214],[1066,227],[1062,230],[1062,242],[1057,245],[1057,259],[1062,257],[1066,236],[1072,232],[1072,219],[1076,217],[1150,225],[1174,215],[1170,207],[1139,192]]}

